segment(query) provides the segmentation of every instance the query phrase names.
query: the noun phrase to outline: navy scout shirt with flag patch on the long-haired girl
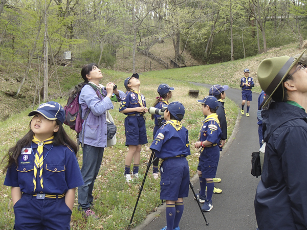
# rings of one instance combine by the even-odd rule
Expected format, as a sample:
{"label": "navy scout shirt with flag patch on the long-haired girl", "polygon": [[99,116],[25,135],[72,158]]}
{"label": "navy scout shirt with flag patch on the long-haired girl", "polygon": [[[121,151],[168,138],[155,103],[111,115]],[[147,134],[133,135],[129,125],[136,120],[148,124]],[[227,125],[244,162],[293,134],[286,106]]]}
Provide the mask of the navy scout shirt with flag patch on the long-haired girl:
{"label": "navy scout shirt with flag patch on the long-haired girl", "polygon": [[[8,168],[4,185],[20,187],[20,191],[28,194],[45,193],[60,195],[69,189],[84,185],[83,177],[75,152],[68,146],[43,146],[43,188],[36,181],[34,190],[34,160],[37,144],[31,143],[30,148],[23,148],[18,156],[18,166]],[[39,172],[38,172],[39,173]],[[39,180],[39,177],[37,176]]]}

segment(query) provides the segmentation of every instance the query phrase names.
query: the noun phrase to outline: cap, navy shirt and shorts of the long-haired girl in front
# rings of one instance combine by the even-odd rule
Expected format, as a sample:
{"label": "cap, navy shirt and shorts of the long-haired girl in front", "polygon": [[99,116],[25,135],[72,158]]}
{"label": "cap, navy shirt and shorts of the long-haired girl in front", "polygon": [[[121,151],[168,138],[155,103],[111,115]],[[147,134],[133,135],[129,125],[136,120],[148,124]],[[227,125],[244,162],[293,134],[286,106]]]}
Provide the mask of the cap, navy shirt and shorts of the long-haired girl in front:
{"label": "cap, navy shirt and shorts of the long-haired girl in front", "polygon": [[[52,111],[50,113],[50,110],[47,110],[52,103],[55,102],[41,104],[37,110],[30,112],[29,116],[39,112],[44,117],[50,118]],[[61,112],[63,114],[60,114]],[[63,123],[64,116],[64,111],[60,111],[54,117]],[[36,141],[34,136],[31,146],[21,149],[17,158],[18,166],[13,164],[7,170],[4,185],[20,187],[20,191],[23,192],[21,199],[13,207],[16,230],[38,230],[42,225],[45,229],[70,229],[72,211],[65,204],[65,193],[69,189],[82,186],[84,182],[75,152],[68,146],[53,145],[50,143],[52,138],[46,144],[42,144]],[[41,145],[43,146],[43,180],[39,179],[39,171],[37,171],[34,181],[35,154],[38,146]],[[29,224],[30,220],[31,224]]]}

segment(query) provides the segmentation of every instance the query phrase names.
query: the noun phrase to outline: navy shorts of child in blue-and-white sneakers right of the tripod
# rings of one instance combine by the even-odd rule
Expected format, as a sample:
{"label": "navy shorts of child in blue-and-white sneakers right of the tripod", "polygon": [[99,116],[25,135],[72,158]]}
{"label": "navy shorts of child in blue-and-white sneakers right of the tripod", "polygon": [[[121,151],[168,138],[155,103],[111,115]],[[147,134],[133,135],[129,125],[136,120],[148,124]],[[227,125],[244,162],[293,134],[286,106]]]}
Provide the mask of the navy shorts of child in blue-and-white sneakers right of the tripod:
{"label": "navy shorts of child in blue-and-white sneakers right of the tripod", "polygon": [[205,147],[199,157],[199,165],[197,167],[202,172],[203,178],[215,177],[218,160],[220,160],[220,147],[218,145]]}

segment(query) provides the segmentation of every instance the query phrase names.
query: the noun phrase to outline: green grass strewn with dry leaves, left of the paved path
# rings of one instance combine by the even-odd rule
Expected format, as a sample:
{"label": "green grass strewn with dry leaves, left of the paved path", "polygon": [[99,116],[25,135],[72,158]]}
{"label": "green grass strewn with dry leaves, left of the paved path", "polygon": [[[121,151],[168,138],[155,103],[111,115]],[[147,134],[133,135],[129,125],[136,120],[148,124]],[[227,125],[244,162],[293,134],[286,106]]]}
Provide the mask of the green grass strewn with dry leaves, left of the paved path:
{"label": "green grass strewn with dry leaves, left of the paved path", "polygon": [[[203,114],[201,105],[196,103],[195,98],[188,96],[190,89],[200,90],[199,98],[204,98],[208,95],[208,89],[200,86],[195,86],[189,81],[201,81],[203,72],[208,67],[192,67],[182,68],[178,70],[159,71],[159,72],[146,72],[140,75],[141,92],[146,97],[147,107],[149,108],[158,96],[157,87],[161,83],[166,83],[175,87],[173,98],[170,101],[180,101],[186,108],[186,114],[182,121],[183,125],[189,130],[189,140],[191,155],[187,157],[190,166],[191,177],[196,173],[198,165],[198,151],[193,147],[197,139]],[[209,71],[209,70],[207,70]],[[200,74],[198,74],[200,72]],[[108,81],[115,82],[119,89],[124,89],[123,79],[128,77],[129,74],[103,70],[104,78],[101,81],[105,84]],[[80,76],[71,75],[64,79],[66,89],[80,82]],[[213,83],[213,79],[210,80]],[[225,84],[225,82],[217,81],[214,83]],[[69,85],[72,84],[70,87]],[[65,100],[57,100],[62,105]],[[225,107],[227,110],[228,122],[228,136],[230,136],[235,125],[236,117],[238,114],[238,107],[229,99],[225,100]],[[139,193],[139,187],[142,180],[134,181],[131,184],[125,183],[124,180],[124,163],[127,153],[124,135],[124,114],[118,112],[119,103],[114,104],[114,110],[111,114],[117,125],[117,145],[111,148],[106,148],[104,151],[103,162],[100,172],[97,176],[94,186],[94,211],[99,216],[99,219],[89,217],[84,219],[80,212],[77,211],[77,198],[72,214],[71,228],[72,229],[125,229],[133,212],[135,202]],[[15,142],[20,139],[27,131],[31,118],[27,115],[31,108],[26,109],[20,113],[10,116],[4,122],[0,122],[0,157],[7,153],[8,149],[12,147]],[[146,164],[150,157],[151,151],[149,146],[152,140],[152,130],[154,127],[153,121],[150,119],[149,114],[146,114],[146,128],[148,144],[142,146],[141,161],[140,161],[140,174],[144,175],[146,171]],[[65,126],[65,130],[72,138],[75,138],[75,132]],[[78,160],[80,166],[82,165],[82,149],[78,152]],[[4,165],[2,165],[2,168]],[[155,180],[151,176],[152,169],[150,169],[147,176],[142,195],[140,197],[138,208],[134,217],[134,224],[140,223],[146,215],[154,211],[160,205],[159,194],[160,185],[159,180]],[[0,229],[12,229],[14,223],[14,213],[12,208],[12,201],[10,195],[10,188],[3,186],[5,175],[0,175]]]}

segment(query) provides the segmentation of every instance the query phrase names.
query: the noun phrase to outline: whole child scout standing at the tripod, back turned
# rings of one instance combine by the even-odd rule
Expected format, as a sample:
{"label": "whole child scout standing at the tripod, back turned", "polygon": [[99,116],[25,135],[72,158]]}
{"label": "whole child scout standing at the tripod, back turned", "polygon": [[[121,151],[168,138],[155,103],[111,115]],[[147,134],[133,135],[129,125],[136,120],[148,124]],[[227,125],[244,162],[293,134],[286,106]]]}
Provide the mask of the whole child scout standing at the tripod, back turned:
{"label": "whole child scout standing at the tripod, back turned", "polygon": [[190,172],[186,156],[190,155],[189,133],[182,126],[184,106],[176,101],[163,105],[166,124],[157,131],[150,149],[161,158],[160,199],[166,202],[166,226],[161,230],[180,230],[183,197],[189,195]]}

